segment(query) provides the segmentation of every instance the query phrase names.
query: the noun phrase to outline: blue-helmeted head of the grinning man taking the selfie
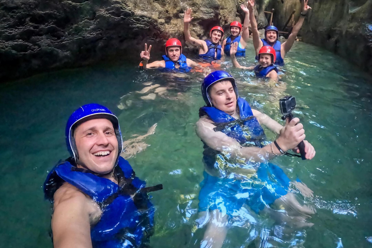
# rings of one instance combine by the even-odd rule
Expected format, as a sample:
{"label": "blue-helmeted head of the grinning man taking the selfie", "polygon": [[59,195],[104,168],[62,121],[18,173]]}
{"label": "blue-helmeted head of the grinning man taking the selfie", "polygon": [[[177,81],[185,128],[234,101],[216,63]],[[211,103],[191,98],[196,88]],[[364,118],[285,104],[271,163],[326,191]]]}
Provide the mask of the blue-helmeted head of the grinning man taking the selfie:
{"label": "blue-helmeted head of the grinning man taking the selfie", "polygon": [[75,110],[66,124],[66,145],[78,167],[107,174],[123,150],[118,118],[106,107],[87,104]]}

